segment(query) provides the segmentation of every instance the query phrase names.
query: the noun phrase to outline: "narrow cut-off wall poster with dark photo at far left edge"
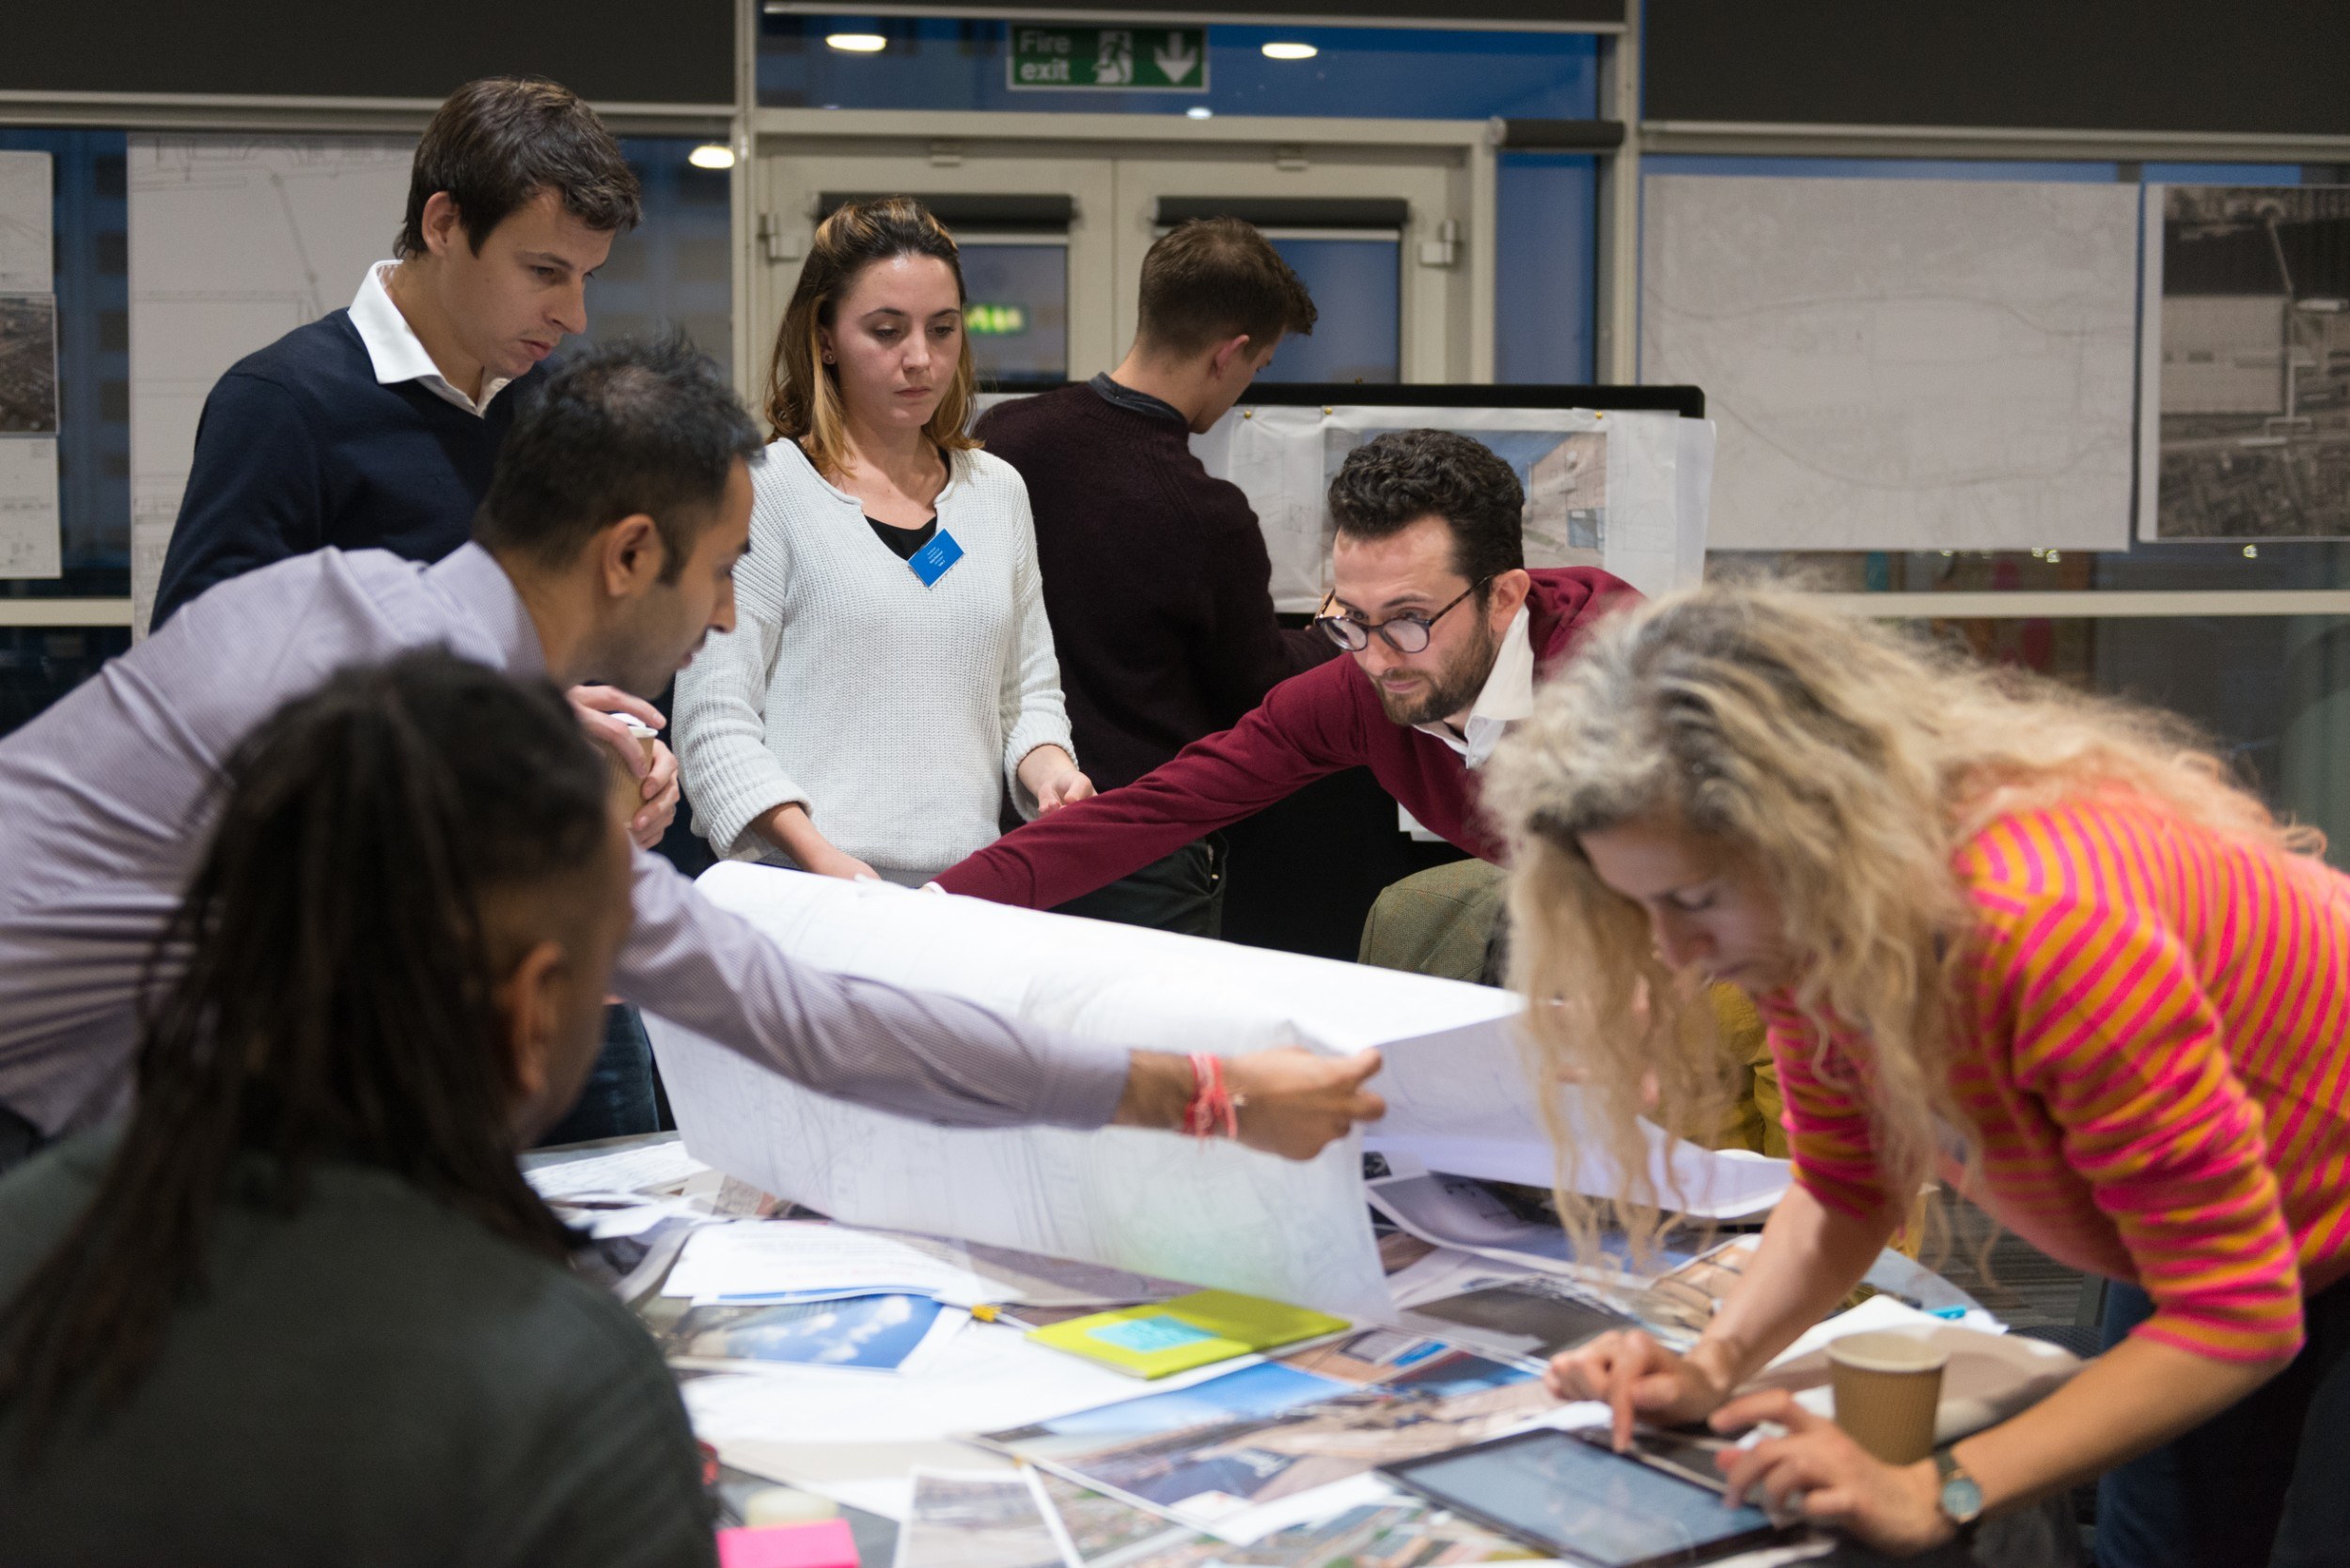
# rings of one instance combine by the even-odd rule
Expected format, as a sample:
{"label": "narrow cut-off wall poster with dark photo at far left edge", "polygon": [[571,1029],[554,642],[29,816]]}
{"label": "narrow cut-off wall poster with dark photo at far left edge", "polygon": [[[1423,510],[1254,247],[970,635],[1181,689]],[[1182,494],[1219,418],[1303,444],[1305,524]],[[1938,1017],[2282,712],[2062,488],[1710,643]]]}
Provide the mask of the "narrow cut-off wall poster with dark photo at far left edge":
{"label": "narrow cut-off wall poster with dark photo at far left edge", "polygon": [[56,577],[56,275],[47,153],[0,153],[0,577]]}

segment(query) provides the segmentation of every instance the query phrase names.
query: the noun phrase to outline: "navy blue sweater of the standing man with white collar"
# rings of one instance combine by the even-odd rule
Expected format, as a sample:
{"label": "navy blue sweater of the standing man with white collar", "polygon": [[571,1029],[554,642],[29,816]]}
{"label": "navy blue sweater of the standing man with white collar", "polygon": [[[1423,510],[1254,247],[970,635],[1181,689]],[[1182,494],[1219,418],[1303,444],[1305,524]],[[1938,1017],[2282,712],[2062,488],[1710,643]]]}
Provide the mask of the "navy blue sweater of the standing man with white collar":
{"label": "navy blue sweater of the standing man with white collar", "polygon": [[322,545],[439,561],[472,533],[533,366],[486,415],[421,383],[381,385],[348,310],[296,326],[221,376],[162,559],[155,624],[214,582]]}

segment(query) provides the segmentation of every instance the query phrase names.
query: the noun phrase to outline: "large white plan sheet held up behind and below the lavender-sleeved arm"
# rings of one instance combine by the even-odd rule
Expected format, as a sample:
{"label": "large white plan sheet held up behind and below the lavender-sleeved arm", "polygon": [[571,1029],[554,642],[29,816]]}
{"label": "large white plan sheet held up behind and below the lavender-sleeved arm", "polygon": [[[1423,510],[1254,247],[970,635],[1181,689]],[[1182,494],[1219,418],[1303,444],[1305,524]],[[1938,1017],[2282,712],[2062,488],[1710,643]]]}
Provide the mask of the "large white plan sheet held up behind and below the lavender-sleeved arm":
{"label": "large white plan sheet held up behind and below the lavender-sleeved arm", "polygon": [[[978,899],[724,864],[703,892],[820,969],[1112,1045],[1361,1052],[1513,1009],[1506,993]],[[848,1106],[649,1019],[696,1155],[855,1225],[952,1235],[1377,1317],[1351,1138],[1290,1162],[1161,1131],[940,1129]],[[1382,1084],[1384,1087],[1384,1084]]]}

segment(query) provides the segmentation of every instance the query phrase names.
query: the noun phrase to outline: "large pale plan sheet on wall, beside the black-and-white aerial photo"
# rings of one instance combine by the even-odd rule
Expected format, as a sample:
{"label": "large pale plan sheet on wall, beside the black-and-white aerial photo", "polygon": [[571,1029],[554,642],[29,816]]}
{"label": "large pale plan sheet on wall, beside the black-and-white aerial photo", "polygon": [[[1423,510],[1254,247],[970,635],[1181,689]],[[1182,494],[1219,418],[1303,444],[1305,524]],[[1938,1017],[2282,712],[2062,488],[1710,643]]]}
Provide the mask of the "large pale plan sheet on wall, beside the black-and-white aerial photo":
{"label": "large pale plan sheet on wall, beside the black-and-white aerial photo", "polygon": [[1640,378],[1713,549],[2127,549],[2138,188],[1657,174]]}

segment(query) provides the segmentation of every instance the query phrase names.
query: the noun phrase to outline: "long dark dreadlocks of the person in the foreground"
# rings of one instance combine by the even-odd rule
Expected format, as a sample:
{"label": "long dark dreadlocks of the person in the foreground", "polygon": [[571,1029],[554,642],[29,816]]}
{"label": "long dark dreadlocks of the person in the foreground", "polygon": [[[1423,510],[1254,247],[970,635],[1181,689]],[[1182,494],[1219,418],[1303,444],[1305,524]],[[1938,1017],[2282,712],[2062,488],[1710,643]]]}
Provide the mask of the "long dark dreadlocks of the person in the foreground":
{"label": "long dark dreadlocks of the person in the foreground", "polygon": [[439,648],[350,667],[247,735],[219,791],[150,958],[129,1124],[96,1199],[0,1305],[19,1462],[68,1397],[99,1415],[129,1394],[204,1291],[221,1211],[294,1214],[320,1160],[571,1251],[515,1169],[484,915],[503,892],[576,899],[611,845],[611,775],[571,704]]}

